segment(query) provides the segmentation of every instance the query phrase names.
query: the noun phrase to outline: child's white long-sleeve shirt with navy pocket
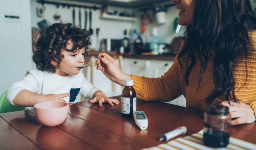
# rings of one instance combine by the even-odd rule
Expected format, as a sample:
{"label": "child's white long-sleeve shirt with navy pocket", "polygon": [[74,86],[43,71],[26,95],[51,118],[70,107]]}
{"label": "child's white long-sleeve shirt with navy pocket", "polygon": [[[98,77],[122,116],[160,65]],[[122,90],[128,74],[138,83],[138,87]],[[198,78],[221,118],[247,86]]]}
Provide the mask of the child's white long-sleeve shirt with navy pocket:
{"label": "child's white long-sleeve shirt with navy pocket", "polygon": [[99,90],[87,81],[82,72],[76,75],[59,76],[38,69],[27,71],[23,79],[12,84],[7,91],[7,100],[13,104],[13,99],[23,89],[37,94],[69,93],[69,97],[62,98],[67,103],[79,102],[80,99],[76,99],[77,94],[92,99],[93,93]]}

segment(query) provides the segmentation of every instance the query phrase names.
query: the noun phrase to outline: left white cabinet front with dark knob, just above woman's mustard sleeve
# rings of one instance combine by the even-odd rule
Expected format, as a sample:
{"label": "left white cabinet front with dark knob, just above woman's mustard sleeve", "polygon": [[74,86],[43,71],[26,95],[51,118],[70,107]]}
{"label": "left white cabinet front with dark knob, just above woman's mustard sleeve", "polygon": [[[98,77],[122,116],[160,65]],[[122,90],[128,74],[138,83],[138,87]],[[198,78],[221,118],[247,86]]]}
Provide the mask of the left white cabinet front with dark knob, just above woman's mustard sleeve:
{"label": "left white cabinet front with dark knob, just above woman's mustard sleeve", "polygon": [[150,61],[145,59],[124,58],[123,62],[123,71],[125,74],[152,77]]}

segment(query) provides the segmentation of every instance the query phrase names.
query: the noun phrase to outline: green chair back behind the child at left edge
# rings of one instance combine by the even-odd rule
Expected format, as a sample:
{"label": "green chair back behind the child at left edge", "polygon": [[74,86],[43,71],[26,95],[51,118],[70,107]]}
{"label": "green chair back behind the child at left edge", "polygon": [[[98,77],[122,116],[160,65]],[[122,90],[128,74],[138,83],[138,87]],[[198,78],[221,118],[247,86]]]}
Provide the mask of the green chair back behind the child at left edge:
{"label": "green chair back behind the child at left edge", "polygon": [[13,104],[10,104],[6,99],[6,93],[7,91],[5,91],[3,95],[0,97],[0,113],[25,110],[25,107],[20,107],[20,106],[15,106]]}

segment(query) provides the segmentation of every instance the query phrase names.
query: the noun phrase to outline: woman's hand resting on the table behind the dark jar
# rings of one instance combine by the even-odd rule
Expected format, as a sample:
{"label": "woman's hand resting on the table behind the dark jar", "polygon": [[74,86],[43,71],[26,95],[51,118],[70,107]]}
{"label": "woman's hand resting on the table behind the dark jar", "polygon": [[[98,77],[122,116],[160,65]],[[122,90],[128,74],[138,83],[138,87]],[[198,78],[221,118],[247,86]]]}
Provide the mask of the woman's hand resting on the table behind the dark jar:
{"label": "woman's hand resting on the table behind the dark jar", "polygon": [[223,106],[229,108],[229,114],[231,116],[231,125],[239,125],[245,123],[252,123],[255,121],[253,109],[248,104],[237,103],[235,101],[223,101],[220,103]]}

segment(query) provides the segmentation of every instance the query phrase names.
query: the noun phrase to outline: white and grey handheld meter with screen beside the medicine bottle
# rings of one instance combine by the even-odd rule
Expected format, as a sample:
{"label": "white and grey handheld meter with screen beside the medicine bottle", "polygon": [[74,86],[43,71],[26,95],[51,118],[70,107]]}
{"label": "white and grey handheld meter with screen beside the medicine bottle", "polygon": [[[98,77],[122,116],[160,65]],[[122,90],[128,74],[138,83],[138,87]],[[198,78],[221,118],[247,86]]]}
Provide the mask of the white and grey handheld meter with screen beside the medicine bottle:
{"label": "white and grey handheld meter with screen beside the medicine bottle", "polygon": [[146,130],[148,128],[148,119],[146,117],[146,114],[143,111],[135,111],[133,113],[133,118],[136,125],[141,130]]}

